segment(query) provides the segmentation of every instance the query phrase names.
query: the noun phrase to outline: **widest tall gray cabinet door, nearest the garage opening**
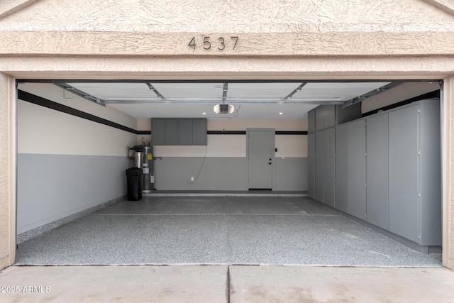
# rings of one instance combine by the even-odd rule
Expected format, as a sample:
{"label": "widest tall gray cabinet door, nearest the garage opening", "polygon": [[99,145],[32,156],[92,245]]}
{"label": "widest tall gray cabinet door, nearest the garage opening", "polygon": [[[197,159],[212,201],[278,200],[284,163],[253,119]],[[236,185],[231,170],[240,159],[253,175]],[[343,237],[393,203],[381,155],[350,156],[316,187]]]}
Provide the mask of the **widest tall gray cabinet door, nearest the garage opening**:
{"label": "widest tall gray cabinet door, nearest the garage opening", "polygon": [[389,231],[418,242],[418,106],[389,113]]}

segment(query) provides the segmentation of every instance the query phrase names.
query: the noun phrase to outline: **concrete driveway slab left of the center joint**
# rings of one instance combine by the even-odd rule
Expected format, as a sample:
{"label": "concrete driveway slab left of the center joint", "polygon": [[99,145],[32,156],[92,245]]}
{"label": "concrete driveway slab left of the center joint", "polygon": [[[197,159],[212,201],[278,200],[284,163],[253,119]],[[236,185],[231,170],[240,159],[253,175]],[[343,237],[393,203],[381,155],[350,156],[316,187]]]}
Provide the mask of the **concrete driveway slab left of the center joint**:
{"label": "concrete driveway slab left of the center joint", "polygon": [[0,302],[226,302],[227,266],[12,266]]}

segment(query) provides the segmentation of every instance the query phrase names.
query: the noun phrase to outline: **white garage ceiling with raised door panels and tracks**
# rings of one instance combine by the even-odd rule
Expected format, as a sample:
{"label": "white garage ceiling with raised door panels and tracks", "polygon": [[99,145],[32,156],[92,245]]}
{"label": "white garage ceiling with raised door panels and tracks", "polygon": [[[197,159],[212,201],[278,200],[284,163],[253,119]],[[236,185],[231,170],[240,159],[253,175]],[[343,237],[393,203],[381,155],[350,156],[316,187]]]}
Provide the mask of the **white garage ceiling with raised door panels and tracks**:
{"label": "white garage ceiling with raised door panels and tracks", "polygon": [[[395,82],[72,82],[55,83],[136,119],[305,119],[319,104],[361,101]],[[215,114],[216,104],[233,114]],[[205,114],[204,114],[205,113]],[[282,114],[279,114],[282,113]]]}

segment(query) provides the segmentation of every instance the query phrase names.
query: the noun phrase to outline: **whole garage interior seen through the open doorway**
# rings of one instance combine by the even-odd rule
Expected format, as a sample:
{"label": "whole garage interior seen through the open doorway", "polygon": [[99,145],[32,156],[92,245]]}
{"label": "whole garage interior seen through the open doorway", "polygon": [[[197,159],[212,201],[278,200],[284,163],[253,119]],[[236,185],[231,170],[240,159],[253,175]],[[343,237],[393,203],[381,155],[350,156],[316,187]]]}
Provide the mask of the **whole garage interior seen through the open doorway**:
{"label": "whole garage interior seen through the open doorway", "polygon": [[[440,85],[20,79],[16,264],[441,266]],[[415,106],[396,129],[435,146],[427,162],[380,143]],[[126,201],[138,145],[153,146],[153,189]]]}

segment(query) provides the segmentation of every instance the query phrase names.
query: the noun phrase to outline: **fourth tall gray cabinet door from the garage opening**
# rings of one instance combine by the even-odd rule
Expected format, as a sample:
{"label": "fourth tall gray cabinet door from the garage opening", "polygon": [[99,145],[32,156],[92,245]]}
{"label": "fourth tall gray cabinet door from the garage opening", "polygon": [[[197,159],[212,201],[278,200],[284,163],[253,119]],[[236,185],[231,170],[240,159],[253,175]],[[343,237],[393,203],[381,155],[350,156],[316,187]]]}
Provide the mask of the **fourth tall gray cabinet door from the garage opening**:
{"label": "fourth tall gray cabinet door from the garage opening", "polygon": [[336,209],[348,211],[348,124],[336,127]]}

